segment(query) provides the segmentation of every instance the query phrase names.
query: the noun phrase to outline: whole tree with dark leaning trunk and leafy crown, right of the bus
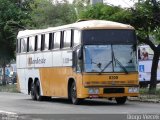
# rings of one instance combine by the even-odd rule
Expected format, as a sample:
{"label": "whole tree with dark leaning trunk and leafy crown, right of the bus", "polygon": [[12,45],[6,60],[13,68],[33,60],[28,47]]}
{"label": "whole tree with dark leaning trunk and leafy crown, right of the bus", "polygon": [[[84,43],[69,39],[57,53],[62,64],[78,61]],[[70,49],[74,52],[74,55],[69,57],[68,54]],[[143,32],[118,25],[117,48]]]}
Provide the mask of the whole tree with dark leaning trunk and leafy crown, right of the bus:
{"label": "whole tree with dark leaning trunk and leafy crown, right of the bus", "polygon": [[157,67],[160,57],[160,44],[156,46],[150,36],[155,36],[160,41],[160,3],[156,0],[139,0],[131,10],[131,24],[136,28],[138,40],[148,44],[154,52],[149,92],[154,93],[157,84]]}

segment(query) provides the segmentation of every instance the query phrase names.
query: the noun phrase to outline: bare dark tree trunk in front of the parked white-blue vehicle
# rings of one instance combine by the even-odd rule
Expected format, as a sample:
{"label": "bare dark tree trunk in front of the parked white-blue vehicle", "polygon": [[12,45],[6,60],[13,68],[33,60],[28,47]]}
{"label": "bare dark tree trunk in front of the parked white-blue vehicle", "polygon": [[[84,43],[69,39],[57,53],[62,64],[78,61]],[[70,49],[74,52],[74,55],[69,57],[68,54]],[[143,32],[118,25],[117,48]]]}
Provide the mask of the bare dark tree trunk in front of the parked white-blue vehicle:
{"label": "bare dark tree trunk in front of the parked white-blue vehicle", "polygon": [[159,53],[155,51],[153,56],[153,61],[152,61],[149,93],[156,92],[158,62],[159,62]]}

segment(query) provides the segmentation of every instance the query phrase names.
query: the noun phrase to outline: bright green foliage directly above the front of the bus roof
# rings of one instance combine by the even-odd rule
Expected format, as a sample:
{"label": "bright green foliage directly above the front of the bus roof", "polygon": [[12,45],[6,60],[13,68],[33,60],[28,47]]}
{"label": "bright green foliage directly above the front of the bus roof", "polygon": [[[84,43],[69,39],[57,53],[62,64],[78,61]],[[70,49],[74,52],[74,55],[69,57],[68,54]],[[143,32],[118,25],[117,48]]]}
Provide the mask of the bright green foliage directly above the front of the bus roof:
{"label": "bright green foliage directly above the front of the bus roof", "polygon": [[121,23],[128,22],[130,17],[131,13],[126,9],[101,3],[87,6],[87,8],[80,13],[80,19],[102,19]]}

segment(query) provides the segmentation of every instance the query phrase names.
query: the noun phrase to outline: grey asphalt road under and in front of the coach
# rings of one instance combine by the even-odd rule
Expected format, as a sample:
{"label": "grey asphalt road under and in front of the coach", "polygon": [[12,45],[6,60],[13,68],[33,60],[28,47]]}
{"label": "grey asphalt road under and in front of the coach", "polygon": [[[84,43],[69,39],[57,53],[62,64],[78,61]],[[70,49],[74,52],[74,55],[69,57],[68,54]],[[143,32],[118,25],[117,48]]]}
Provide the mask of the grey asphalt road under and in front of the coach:
{"label": "grey asphalt road under and in front of the coach", "polygon": [[[29,95],[1,92],[0,114],[3,114],[0,117],[4,117],[4,114],[19,115],[22,118],[28,117],[28,120],[33,116],[48,116],[47,119],[49,119],[53,117],[53,114],[68,115],[68,117],[76,115],[80,116],[80,118],[82,114],[89,114],[93,118],[95,118],[95,115],[99,116],[100,114],[123,114],[125,116],[128,114],[158,114],[160,118],[160,104],[127,101],[124,105],[117,105],[115,101],[103,99],[85,100],[81,105],[72,105],[68,100],[64,99],[54,98],[50,101],[39,102],[31,100]],[[67,118],[67,116],[64,116],[64,118]],[[35,118],[35,120],[41,119]],[[65,119],[61,118],[60,120]],[[82,120],[85,120],[85,118]]]}

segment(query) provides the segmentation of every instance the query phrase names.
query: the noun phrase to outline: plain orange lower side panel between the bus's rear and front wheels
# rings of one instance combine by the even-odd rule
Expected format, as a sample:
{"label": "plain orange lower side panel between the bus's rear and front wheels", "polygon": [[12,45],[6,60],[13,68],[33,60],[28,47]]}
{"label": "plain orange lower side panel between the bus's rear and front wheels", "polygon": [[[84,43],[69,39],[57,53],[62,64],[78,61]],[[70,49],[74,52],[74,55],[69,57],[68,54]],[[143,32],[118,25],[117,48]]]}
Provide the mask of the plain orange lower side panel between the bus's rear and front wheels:
{"label": "plain orange lower side panel between the bus's rear and front wheels", "polygon": [[[71,67],[40,68],[39,72],[44,96],[68,97],[67,84],[72,76]],[[46,84],[46,79],[49,84]]]}

